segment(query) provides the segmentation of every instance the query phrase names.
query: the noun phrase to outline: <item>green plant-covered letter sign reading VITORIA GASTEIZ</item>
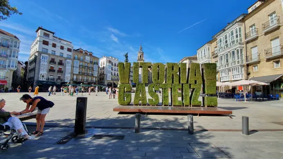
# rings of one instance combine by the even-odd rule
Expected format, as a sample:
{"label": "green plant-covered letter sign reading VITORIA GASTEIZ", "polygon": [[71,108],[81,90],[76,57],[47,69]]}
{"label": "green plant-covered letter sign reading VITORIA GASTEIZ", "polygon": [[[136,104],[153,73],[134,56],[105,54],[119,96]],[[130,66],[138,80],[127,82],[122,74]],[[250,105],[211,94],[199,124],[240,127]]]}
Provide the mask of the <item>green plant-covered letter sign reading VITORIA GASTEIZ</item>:
{"label": "green plant-covered letter sign reading VITORIA GASTEIZ", "polygon": [[[131,103],[131,87],[129,84],[130,63],[119,63],[119,98],[120,105]],[[139,69],[142,69],[142,82],[139,82]],[[145,84],[148,83],[148,68],[152,68],[152,84],[148,85],[146,97]],[[192,63],[134,63],[133,80],[137,84],[134,105],[152,106],[193,106],[217,107],[217,98],[211,96],[216,93],[216,64]],[[198,100],[203,90],[205,96],[202,102]],[[169,92],[169,90],[171,90]],[[162,91],[162,102],[159,102],[158,91]],[[179,100],[179,97],[181,100]],[[171,103],[169,103],[169,99]]]}

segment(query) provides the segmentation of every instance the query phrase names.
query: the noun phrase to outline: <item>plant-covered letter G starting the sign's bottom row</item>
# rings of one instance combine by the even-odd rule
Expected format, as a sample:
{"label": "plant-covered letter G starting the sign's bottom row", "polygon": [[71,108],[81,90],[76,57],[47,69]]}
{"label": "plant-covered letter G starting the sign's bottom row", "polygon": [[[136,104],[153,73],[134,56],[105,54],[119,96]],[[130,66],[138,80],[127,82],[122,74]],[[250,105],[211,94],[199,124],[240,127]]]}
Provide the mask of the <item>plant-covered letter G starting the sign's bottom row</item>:
{"label": "plant-covered letter G starting the sign's bottom row", "polygon": [[[130,92],[131,86],[130,84],[120,84],[119,85],[119,97],[118,97],[118,103],[122,106],[127,106],[131,102],[131,93],[125,93]],[[126,100],[125,100],[126,98]]]}

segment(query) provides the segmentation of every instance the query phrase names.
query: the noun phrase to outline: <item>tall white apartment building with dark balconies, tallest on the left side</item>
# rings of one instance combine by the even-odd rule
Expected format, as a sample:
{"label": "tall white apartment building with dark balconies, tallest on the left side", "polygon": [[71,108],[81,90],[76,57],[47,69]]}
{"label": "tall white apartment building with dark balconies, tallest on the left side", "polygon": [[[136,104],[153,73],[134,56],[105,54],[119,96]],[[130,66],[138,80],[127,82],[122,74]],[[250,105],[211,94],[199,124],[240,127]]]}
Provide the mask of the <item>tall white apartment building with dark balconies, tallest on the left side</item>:
{"label": "tall white apartment building with dark balconies, tallest on the left side", "polygon": [[73,44],[55,36],[55,32],[39,27],[31,44],[28,64],[28,82],[33,87],[46,89],[49,86],[70,82]]}

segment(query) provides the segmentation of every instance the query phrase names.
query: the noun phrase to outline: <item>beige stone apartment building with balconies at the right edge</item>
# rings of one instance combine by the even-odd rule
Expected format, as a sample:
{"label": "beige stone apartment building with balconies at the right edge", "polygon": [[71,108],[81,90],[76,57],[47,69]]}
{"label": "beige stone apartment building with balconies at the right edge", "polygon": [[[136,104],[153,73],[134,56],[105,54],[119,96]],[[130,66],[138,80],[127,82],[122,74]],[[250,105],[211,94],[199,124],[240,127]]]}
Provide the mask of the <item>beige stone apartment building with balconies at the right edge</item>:
{"label": "beige stone apartment building with balconies at the right edge", "polygon": [[[283,93],[283,8],[281,0],[257,1],[244,17],[248,78],[265,82],[264,94]],[[253,89],[261,94],[261,87]]]}

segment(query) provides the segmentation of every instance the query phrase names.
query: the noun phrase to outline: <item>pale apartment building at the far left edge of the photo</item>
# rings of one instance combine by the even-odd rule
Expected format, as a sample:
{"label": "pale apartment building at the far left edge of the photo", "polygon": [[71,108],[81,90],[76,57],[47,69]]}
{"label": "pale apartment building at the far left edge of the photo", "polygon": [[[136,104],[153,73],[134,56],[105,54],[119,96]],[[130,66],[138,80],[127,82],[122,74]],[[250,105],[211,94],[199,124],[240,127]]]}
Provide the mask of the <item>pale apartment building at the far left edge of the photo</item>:
{"label": "pale apartment building at the far left edge of the photo", "polygon": [[20,39],[0,29],[0,88],[12,87],[13,71],[17,69]]}

